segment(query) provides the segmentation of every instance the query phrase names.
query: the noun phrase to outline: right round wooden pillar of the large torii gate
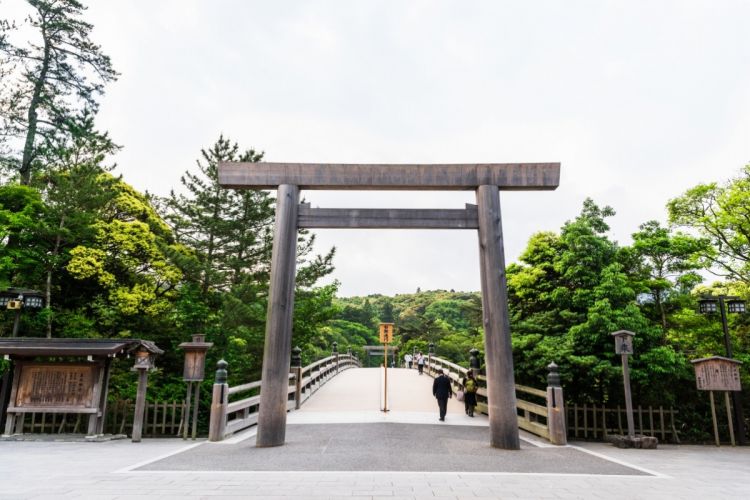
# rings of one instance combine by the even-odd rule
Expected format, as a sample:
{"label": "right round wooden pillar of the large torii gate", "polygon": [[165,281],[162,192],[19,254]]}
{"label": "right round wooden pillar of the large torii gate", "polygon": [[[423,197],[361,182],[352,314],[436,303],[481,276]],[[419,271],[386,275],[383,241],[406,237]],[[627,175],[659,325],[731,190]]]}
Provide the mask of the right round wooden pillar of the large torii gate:
{"label": "right round wooden pillar of the large torii gate", "polygon": [[482,185],[477,188],[477,209],[490,444],[495,448],[518,450],[521,442],[516,416],[500,193],[497,186]]}

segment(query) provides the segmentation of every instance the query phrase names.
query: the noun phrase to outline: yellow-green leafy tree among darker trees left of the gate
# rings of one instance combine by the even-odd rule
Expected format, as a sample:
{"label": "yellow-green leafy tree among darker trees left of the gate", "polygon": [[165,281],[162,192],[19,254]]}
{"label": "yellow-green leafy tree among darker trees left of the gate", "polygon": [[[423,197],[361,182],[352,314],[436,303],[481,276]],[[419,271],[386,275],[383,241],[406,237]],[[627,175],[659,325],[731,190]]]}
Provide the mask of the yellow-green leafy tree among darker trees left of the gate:
{"label": "yellow-green leafy tree among darker trees left of the gate", "polygon": [[92,241],[70,250],[66,269],[79,287],[91,290],[86,307],[100,332],[151,335],[144,331],[148,320],[172,312],[183,280],[174,256],[186,250],[147,196],[119,180],[107,189],[112,197],[92,226]]}

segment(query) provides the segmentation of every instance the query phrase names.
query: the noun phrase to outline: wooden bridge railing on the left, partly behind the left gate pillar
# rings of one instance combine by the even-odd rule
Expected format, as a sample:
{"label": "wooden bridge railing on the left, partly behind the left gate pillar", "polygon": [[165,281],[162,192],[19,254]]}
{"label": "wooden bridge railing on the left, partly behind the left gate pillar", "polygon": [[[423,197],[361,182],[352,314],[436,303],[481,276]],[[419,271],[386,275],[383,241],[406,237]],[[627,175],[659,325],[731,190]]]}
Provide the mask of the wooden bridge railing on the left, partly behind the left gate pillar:
{"label": "wooden bridge railing on the left, partly behind the left gate pillar", "polygon": [[[302,367],[298,363],[299,350],[296,348],[295,355],[289,374],[287,410],[299,409],[302,403],[339,372],[361,366],[359,360],[351,354],[334,354]],[[227,436],[257,424],[260,392],[263,390],[260,380],[230,387],[227,383],[227,362],[221,360],[217,367],[208,427],[209,441],[222,441]],[[240,394],[245,397],[236,399]]]}

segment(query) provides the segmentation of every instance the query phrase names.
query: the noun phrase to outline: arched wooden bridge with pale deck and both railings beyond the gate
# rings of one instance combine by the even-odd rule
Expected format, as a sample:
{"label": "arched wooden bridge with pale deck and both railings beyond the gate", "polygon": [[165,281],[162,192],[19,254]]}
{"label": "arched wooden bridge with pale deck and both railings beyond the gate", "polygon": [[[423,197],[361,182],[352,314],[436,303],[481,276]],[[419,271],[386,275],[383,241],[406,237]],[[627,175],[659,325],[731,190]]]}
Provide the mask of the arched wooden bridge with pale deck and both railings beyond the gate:
{"label": "arched wooden bridge with pale deck and both railings beyond the gate", "polygon": [[[211,405],[210,441],[222,441],[258,422],[261,382],[230,387],[226,383],[226,368],[226,363],[220,362]],[[468,369],[436,356],[428,358],[424,375],[419,375],[416,367],[389,368],[387,401],[383,390],[384,369],[362,368],[359,360],[349,354],[329,356],[305,367],[293,360],[290,371],[286,402],[286,410],[292,412],[290,423],[436,423],[438,407],[432,396],[433,377],[441,371],[448,372],[454,391],[458,391]],[[555,375],[551,372],[551,385],[546,390],[516,385],[517,420],[520,429],[562,445],[566,444],[565,412],[562,389]],[[489,425],[487,378],[480,374],[478,380],[476,418],[467,416],[464,404],[454,397],[449,400],[447,425]]]}

